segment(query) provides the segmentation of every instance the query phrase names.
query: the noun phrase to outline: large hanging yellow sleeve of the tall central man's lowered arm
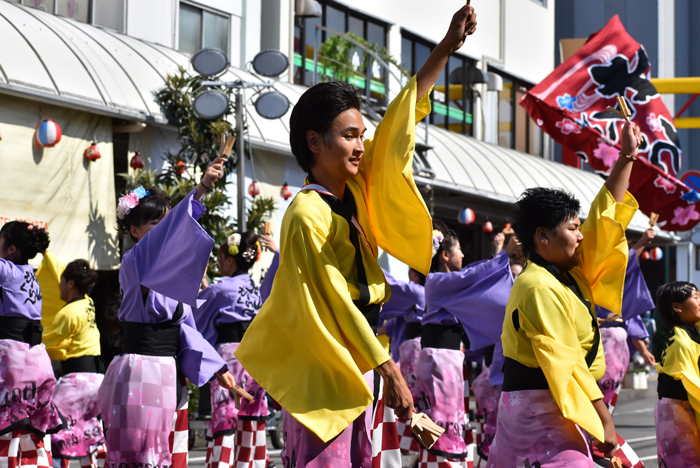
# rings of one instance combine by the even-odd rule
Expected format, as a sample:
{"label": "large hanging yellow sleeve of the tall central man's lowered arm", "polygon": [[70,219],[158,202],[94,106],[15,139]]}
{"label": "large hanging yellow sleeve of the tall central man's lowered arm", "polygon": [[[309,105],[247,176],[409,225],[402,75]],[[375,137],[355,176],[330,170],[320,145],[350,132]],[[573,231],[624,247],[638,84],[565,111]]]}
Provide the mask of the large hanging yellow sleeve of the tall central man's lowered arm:
{"label": "large hanging yellow sleeve of the tall central man's lowered arm", "polygon": [[363,374],[389,355],[338,269],[330,208],[320,198],[298,201],[285,214],[270,297],[235,354],[282,407],[329,441],[371,404]]}

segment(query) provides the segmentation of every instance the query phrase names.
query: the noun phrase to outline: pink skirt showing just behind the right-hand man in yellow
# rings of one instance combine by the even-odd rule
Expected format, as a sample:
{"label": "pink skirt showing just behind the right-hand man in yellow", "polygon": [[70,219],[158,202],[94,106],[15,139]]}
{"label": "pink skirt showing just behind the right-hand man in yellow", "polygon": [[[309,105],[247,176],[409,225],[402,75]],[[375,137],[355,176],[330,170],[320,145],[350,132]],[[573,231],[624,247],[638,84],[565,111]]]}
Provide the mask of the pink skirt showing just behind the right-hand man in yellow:
{"label": "pink skirt showing just behind the right-hand man in yellow", "polygon": [[601,328],[600,339],[605,353],[605,374],[598,381],[598,386],[603,392],[603,401],[609,405],[630,364],[627,331],[623,327]]}

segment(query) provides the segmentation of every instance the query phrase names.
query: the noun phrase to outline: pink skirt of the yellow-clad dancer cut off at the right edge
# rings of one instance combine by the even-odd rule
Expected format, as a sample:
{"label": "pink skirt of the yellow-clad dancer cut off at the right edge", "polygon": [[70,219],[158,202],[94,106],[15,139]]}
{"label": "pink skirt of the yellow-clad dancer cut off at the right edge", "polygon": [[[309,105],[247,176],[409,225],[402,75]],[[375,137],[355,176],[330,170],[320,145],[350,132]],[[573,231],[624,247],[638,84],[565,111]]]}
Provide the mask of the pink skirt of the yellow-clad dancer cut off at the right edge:
{"label": "pink skirt of the yellow-clad dancer cut off at the right edge", "polygon": [[656,402],[654,418],[659,467],[700,466],[700,435],[690,403],[662,398]]}

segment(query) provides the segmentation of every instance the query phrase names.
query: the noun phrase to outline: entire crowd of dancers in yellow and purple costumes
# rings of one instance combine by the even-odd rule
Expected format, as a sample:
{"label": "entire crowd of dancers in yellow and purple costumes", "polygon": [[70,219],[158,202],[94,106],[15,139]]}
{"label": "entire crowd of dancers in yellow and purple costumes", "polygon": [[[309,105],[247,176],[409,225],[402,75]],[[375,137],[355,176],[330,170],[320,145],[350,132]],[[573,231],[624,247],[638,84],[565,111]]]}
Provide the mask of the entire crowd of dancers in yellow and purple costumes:
{"label": "entire crowd of dancers in yellow and purple costumes", "polygon": [[[217,247],[221,279],[211,286],[201,283],[215,246],[198,219],[224,158],[174,207],[152,187],[124,195],[117,220],[134,246],[119,271],[121,354],[106,371],[89,296],[97,273],[85,260],[61,265],[45,230],[5,224],[0,467],[184,467],[186,381],[211,382],[210,468],[270,463],[266,395],[283,408],[285,468],[398,467],[402,453],[417,454],[421,468],[475,458],[489,468],[589,467],[613,455],[636,467],[611,418],[634,351],[659,371],[660,465],[700,466],[694,285],[660,288],[671,336],[659,363],[645,346],[640,315],[655,306],[637,259],[654,231],[631,249],[625,237],[637,210],[626,191],[636,125],[624,127],[583,223],[566,190],[528,189],[493,258],[463,266],[456,233],[431,220],[411,172],[415,125],[475,29],[467,5],[371,141],[352,86],[307,90],[290,120],[307,184],[285,213],[280,248],[232,234]],[[258,288],[249,270],[262,248],[276,253]],[[408,265],[409,282],[382,270],[380,248]],[[39,253],[35,275],[28,262]],[[42,307],[42,297],[65,305]],[[465,358],[483,365],[473,381]],[[430,448],[412,435],[417,412],[445,430]]]}

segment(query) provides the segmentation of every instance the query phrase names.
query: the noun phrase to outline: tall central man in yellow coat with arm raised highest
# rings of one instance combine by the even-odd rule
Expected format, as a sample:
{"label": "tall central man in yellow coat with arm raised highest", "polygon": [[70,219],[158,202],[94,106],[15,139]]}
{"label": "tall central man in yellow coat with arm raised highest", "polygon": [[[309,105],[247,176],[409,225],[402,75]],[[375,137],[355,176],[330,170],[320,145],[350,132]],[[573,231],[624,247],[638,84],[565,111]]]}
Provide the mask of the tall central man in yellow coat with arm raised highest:
{"label": "tall central man in yellow coat with arm raised highest", "polygon": [[363,418],[373,392],[363,375],[372,369],[383,378],[386,406],[400,416],[413,410],[372,329],[390,296],[376,259],[381,247],[428,272],[432,227],[412,175],[415,125],[430,112],[430,89],[449,56],[475,28],[473,8],[461,8],[372,141],[363,143],[360,101],[347,83],[313,86],[294,107],[290,142],[309,184],[285,213],[270,297],[236,351],[291,415],[285,457],[293,465],[367,462]]}

